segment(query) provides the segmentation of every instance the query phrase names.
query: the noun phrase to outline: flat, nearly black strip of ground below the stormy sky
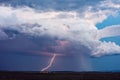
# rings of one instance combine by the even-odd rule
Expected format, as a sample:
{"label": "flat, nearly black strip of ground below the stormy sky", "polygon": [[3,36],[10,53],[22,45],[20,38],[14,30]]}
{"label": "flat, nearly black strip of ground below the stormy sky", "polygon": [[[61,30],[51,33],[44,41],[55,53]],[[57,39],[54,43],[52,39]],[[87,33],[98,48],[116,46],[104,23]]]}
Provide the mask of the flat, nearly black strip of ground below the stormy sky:
{"label": "flat, nearly black strip of ground below the stormy sky", "polygon": [[120,80],[120,72],[0,72],[0,80]]}

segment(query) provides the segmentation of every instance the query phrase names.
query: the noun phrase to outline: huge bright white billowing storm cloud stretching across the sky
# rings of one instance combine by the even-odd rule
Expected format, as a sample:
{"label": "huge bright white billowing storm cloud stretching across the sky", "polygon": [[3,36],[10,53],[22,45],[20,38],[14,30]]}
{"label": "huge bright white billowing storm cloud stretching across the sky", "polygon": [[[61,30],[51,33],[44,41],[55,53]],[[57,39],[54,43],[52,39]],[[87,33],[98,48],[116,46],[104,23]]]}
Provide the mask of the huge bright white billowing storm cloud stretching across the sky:
{"label": "huge bright white billowing storm cloud stretching across the sky", "polygon": [[[36,12],[29,7],[14,9],[0,6],[0,39],[8,37],[5,30],[9,29],[30,36],[47,35],[75,41],[80,45],[84,45],[91,51],[91,55],[97,57],[120,54],[120,46],[115,42],[100,41],[103,37],[119,36],[120,25],[106,27],[101,30],[95,26],[110,14],[113,15],[113,9],[116,9],[117,12],[119,6],[115,6],[114,3],[112,5],[114,6],[110,10],[99,9],[98,12],[94,12],[93,7],[88,7],[88,10],[82,12],[82,14],[77,11]],[[105,6],[99,5],[98,7],[103,8]]]}

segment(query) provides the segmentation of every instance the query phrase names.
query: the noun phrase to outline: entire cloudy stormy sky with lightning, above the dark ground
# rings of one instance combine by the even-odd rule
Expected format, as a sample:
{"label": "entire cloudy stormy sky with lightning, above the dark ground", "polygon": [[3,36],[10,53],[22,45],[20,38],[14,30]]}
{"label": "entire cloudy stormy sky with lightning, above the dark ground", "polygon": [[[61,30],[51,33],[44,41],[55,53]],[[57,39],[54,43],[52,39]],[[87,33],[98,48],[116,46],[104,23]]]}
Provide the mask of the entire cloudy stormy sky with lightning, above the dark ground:
{"label": "entire cloudy stormy sky with lightning, above the dark ground", "polygon": [[0,0],[0,70],[120,71],[120,0]]}

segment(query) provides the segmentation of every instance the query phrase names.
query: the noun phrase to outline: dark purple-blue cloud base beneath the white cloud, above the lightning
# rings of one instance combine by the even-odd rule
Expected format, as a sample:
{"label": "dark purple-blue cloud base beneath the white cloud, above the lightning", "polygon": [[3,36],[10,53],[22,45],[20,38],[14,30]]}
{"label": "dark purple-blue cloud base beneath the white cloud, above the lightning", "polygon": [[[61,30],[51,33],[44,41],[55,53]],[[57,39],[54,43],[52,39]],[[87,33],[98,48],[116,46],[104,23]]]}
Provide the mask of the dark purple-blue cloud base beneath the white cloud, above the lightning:
{"label": "dark purple-blue cloud base beneath the white cloud, above the lightning", "polygon": [[[13,31],[14,32],[14,31]],[[49,52],[49,53],[58,53],[64,54],[66,56],[78,55],[79,52],[82,54],[88,55],[90,50],[87,47],[80,45],[79,43],[67,40],[61,40],[57,37],[50,36],[28,36],[24,34],[15,34],[12,31],[7,31],[7,34],[10,35],[6,40],[0,40],[0,52],[4,53],[27,53],[29,54],[39,54],[38,52]],[[12,38],[12,35],[15,34],[16,37]],[[61,49],[61,44],[59,41],[67,41],[68,44],[65,44],[66,47]],[[59,49],[58,49],[59,48]],[[40,55],[40,54],[39,54]]]}

